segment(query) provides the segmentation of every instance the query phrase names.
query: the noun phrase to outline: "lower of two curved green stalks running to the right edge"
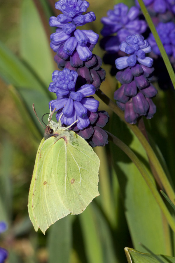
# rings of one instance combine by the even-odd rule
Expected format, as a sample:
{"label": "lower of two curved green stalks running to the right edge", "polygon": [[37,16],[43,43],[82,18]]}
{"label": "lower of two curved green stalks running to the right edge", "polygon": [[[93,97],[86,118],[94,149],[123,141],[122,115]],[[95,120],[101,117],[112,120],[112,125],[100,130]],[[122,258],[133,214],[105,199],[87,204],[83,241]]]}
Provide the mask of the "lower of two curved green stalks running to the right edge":
{"label": "lower of two curved green stalks running to the right edge", "polygon": [[175,222],[173,217],[171,216],[170,212],[168,211],[166,205],[164,204],[160,194],[157,191],[156,186],[153,184],[153,181],[151,180],[149,174],[147,173],[145,167],[143,166],[142,162],[140,162],[139,158],[135,155],[135,153],[120,139],[115,137],[110,132],[106,131],[108,133],[108,138],[115,143],[124,153],[127,154],[127,156],[134,162],[137,169],[143,176],[143,179],[146,181],[146,184],[150,188],[150,191],[152,192],[155,200],[157,201],[157,204],[159,205],[160,209],[162,210],[165,218],[167,219],[167,222],[171,229],[175,232]]}

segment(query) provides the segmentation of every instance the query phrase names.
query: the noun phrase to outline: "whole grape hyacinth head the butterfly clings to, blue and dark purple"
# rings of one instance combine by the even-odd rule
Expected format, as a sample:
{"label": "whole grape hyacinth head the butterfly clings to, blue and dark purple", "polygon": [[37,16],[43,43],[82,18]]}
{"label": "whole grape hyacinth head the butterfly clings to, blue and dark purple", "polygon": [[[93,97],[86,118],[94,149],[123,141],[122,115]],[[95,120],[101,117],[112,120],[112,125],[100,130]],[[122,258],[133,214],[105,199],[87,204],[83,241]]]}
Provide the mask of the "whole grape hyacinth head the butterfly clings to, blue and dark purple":
{"label": "whole grape hyacinth head the butterfly clings to, blue and dark purple", "polygon": [[108,113],[97,111],[99,101],[90,96],[95,94],[95,87],[92,84],[79,87],[77,77],[78,73],[74,70],[55,70],[49,91],[55,92],[57,99],[50,101],[49,105],[52,110],[56,108],[56,119],[60,119],[64,125],[71,125],[78,119],[70,129],[86,139],[92,147],[104,146],[108,143],[108,136],[101,128],[108,122]]}

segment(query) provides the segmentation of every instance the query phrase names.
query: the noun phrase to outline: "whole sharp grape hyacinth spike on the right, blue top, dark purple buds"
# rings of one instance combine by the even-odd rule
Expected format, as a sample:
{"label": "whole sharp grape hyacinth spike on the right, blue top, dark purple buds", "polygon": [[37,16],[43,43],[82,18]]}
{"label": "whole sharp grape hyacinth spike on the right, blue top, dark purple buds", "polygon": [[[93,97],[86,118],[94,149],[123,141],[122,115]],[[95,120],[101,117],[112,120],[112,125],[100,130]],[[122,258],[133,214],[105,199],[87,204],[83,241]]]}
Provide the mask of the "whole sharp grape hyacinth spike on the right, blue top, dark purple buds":
{"label": "whole sharp grape hyacinth spike on the right, blue top, dark purple buds", "polygon": [[153,59],[145,56],[151,50],[150,44],[143,36],[133,34],[126,37],[120,49],[130,56],[115,61],[116,67],[121,70],[117,72],[116,79],[122,86],[115,91],[114,99],[125,111],[125,120],[130,124],[135,124],[142,115],[151,119],[156,112],[151,98],[157,94],[157,90],[149,82],[154,71]]}

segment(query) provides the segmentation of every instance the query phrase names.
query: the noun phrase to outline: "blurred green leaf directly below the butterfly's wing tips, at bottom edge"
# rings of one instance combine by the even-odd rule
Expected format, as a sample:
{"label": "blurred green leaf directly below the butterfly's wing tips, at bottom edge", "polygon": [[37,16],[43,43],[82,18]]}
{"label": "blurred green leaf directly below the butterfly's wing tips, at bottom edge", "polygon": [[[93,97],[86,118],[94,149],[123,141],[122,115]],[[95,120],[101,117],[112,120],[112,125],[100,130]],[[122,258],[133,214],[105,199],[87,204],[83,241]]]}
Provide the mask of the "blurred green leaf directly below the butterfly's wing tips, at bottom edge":
{"label": "blurred green leaf directly below the butterfly's wing tips, at bottom edge", "polygon": [[57,221],[50,227],[48,236],[49,263],[70,262],[72,245],[72,217],[68,216]]}

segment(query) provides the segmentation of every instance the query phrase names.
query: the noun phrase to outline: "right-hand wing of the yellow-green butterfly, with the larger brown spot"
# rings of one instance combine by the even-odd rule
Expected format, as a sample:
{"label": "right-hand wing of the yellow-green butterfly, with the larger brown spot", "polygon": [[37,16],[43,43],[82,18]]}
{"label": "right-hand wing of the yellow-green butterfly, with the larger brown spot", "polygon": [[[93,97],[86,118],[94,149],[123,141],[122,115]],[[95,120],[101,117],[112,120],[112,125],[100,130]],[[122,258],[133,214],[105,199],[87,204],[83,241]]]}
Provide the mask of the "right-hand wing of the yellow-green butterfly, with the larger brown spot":
{"label": "right-hand wing of the yellow-green butterfly, with the larger brown spot", "polygon": [[54,147],[54,174],[58,174],[57,185],[61,200],[71,214],[80,214],[88,204],[99,195],[98,171],[99,158],[90,145],[75,132],[71,131],[71,139],[65,144],[62,165],[56,159],[57,148]]}

